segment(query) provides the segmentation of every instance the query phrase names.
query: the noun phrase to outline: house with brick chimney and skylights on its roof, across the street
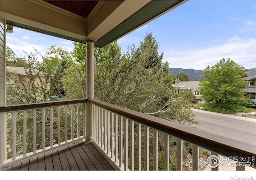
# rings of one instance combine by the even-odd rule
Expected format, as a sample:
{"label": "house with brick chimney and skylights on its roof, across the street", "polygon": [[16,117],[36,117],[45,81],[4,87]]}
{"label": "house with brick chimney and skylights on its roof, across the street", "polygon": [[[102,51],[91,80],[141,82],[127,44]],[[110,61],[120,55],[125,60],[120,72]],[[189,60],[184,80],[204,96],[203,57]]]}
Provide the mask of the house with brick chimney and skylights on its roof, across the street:
{"label": "house with brick chimney and skylights on its roof, across the street", "polygon": [[177,88],[178,91],[189,90],[196,100],[200,102],[202,100],[202,95],[198,92],[199,81],[180,81],[179,79],[175,80],[175,84],[172,84],[174,88]]}

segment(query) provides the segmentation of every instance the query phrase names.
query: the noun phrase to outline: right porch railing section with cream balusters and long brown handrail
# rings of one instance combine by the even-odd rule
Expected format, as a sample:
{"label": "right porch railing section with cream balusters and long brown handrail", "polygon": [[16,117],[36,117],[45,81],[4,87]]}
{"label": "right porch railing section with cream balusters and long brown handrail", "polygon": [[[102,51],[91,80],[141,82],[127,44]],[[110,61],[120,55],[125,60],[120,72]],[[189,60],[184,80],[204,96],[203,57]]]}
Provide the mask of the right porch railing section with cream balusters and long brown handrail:
{"label": "right porch railing section with cream balusters and long brown handrail", "polygon": [[[192,170],[199,170],[199,148],[217,156],[255,157],[256,154],[256,146],[244,142],[99,100],[89,99],[89,102],[91,138],[121,170],[182,170],[184,141],[192,144]],[[170,146],[173,142],[175,152],[174,145]],[[236,166],[236,170],[245,170],[245,166]]]}

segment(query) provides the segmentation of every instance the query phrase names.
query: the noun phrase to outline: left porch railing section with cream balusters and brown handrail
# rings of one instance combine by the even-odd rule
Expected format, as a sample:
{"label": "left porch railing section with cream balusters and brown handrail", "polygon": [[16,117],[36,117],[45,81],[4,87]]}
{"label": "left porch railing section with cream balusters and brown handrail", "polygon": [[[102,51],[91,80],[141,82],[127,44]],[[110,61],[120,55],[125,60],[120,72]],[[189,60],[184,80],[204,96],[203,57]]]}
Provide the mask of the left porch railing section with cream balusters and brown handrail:
{"label": "left porch railing section with cream balusters and brown handrail", "polygon": [[0,168],[85,138],[86,99],[0,108]]}

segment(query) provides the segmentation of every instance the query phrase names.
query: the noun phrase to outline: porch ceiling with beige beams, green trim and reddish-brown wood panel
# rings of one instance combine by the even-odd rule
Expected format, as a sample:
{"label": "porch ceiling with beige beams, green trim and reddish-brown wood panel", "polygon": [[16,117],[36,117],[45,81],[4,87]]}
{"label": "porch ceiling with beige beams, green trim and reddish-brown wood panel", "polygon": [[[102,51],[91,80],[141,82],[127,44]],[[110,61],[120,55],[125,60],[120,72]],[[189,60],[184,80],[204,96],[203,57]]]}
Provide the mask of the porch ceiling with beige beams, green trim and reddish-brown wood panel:
{"label": "porch ceiling with beige beams, green trim and reddish-brown wood panel", "polygon": [[183,0],[0,1],[7,24],[103,47],[176,8]]}

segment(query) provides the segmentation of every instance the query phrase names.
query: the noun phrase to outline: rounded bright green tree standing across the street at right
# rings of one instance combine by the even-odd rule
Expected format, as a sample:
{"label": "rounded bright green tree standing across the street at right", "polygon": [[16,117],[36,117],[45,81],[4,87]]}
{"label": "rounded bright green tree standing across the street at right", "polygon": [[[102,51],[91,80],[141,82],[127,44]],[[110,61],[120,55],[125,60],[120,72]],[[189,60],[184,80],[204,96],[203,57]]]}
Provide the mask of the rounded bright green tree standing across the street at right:
{"label": "rounded bright green tree standing across the street at right", "polygon": [[246,85],[244,67],[233,60],[225,60],[204,69],[205,79],[200,78],[200,93],[205,100],[214,100],[216,106],[220,104],[244,104],[246,97],[242,89]]}

